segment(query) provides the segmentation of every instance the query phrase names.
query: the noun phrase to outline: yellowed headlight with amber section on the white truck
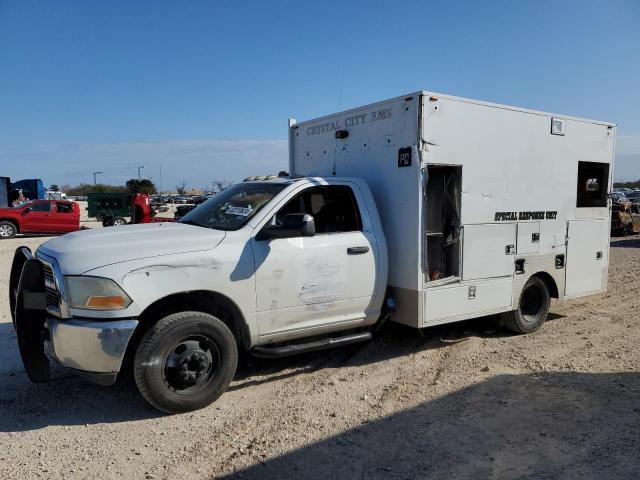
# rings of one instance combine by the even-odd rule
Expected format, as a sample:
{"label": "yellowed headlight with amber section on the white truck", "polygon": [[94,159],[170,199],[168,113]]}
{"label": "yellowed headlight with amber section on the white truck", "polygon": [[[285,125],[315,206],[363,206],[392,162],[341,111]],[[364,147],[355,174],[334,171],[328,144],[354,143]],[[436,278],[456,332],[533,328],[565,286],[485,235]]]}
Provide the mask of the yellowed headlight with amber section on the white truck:
{"label": "yellowed headlight with amber section on the white truck", "polygon": [[69,306],[87,310],[124,310],[131,299],[116,282],[100,277],[65,277]]}

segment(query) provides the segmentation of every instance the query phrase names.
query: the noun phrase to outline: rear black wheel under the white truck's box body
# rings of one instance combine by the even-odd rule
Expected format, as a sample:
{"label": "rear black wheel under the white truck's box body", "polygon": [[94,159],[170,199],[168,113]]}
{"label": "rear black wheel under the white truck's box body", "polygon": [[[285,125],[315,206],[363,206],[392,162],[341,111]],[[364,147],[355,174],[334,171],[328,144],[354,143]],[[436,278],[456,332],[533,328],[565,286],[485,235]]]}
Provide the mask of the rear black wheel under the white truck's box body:
{"label": "rear black wheel under the white truck's box body", "polygon": [[535,332],[547,319],[550,303],[546,283],[539,277],[531,277],[522,289],[518,308],[502,314],[502,324],[515,333]]}

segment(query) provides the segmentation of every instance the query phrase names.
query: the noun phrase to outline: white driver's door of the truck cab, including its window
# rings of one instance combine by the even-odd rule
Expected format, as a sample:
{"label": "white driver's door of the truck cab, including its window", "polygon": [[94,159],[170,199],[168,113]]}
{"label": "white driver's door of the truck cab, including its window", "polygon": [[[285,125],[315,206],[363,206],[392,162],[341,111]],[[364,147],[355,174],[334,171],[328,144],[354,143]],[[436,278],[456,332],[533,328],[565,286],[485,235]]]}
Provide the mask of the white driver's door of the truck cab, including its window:
{"label": "white driver's door of the truck cab, including its window", "polygon": [[293,337],[301,330],[366,317],[377,283],[378,252],[361,205],[350,185],[309,187],[270,222],[308,213],[314,217],[315,236],[252,239],[261,336],[290,332]]}

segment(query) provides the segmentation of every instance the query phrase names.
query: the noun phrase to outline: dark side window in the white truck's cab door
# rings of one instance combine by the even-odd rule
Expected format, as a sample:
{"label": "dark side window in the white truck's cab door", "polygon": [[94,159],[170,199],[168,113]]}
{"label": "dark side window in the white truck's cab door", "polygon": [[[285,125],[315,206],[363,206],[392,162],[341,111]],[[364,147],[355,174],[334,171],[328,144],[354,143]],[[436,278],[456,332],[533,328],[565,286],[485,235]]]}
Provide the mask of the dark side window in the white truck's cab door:
{"label": "dark side window in the white truck's cab door", "polygon": [[316,233],[362,230],[358,203],[353,191],[346,185],[312,187],[299,193],[278,211],[275,223],[281,224],[289,213],[312,215]]}

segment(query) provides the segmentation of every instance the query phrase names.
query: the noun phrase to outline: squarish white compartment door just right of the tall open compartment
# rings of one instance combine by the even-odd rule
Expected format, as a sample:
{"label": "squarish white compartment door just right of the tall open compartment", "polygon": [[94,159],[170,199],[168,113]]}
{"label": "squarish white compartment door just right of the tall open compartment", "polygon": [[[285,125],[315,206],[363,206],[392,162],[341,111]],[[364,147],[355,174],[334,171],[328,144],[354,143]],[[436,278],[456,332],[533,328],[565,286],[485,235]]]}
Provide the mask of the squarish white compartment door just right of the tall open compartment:
{"label": "squarish white compartment door just right of the tall open compartment", "polygon": [[513,276],[515,253],[515,223],[465,225],[462,278],[477,280]]}

